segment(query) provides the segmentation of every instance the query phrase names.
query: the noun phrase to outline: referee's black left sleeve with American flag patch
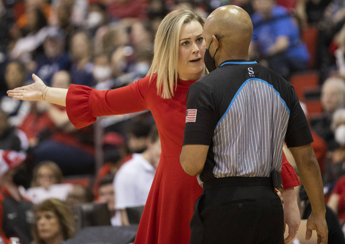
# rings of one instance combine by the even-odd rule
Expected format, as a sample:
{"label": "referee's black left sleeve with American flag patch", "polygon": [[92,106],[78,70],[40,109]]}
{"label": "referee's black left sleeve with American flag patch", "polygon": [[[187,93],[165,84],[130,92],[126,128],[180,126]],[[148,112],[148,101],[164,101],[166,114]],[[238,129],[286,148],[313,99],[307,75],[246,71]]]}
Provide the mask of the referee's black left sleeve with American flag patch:
{"label": "referee's black left sleeve with American flag patch", "polygon": [[201,82],[193,83],[187,94],[183,145],[209,145],[217,124],[215,118],[215,104],[210,87]]}

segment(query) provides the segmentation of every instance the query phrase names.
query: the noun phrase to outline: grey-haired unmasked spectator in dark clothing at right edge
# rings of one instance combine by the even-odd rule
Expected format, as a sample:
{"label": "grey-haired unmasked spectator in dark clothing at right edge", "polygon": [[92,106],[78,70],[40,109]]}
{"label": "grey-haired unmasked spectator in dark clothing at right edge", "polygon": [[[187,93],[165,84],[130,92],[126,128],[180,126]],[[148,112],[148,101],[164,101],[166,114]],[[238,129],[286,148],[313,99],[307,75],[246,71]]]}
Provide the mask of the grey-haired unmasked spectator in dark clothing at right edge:
{"label": "grey-haired unmasked spectator in dark clothing at right edge", "polygon": [[323,107],[323,115],[321,118],[311,123],[312,129],[321,136],[329,151],[334,151],[338,144],[334,139],[331,130],[331,120],[333,113],[338,108],[345,106],[345,81],[341,78],[328,78],[322,85],[321,104]]}

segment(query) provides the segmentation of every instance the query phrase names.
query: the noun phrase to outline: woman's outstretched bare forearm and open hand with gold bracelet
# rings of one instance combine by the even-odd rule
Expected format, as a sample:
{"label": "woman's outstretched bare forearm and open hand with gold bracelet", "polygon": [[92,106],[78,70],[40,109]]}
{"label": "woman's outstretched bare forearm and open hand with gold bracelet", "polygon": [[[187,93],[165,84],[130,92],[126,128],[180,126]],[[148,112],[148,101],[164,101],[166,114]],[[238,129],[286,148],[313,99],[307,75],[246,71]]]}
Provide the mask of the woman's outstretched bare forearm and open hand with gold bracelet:
{"label": "woman's outstretched bare forearm and open hand with gold bracelet", "polygon": [[68,89],[47,87],[36,74],[32,74],[32,78],[35,81],[34,83],[9,90],[7,94],[12,96],[13,99],[29,101],[44,100],[66,106]]}

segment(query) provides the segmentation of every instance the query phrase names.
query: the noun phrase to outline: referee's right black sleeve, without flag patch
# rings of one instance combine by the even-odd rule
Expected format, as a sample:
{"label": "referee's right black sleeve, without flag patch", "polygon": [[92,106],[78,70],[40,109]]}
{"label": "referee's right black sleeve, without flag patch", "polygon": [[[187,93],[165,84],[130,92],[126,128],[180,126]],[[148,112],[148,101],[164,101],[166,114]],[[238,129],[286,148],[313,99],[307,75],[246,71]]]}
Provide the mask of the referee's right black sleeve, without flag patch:
{"label": "referee's right black sleeve, without flag patch", "polygon": [[285,135],[286,145],[291,148],[310,144],[314,141],[312,133],[292,85],[290,86],[290,98],[291,100],[287,103],[290,116]]}

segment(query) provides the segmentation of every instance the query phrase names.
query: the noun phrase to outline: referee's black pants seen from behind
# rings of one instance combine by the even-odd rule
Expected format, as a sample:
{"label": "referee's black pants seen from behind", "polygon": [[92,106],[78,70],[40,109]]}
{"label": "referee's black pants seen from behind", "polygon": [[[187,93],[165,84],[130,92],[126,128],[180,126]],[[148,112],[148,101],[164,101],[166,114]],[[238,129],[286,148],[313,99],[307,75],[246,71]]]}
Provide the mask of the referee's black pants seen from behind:
{"label": "referee's black pants seen from behind", "polygon": [[283,205],[270,177],[209,180],[190,230],[190,244],[284,244]]}

